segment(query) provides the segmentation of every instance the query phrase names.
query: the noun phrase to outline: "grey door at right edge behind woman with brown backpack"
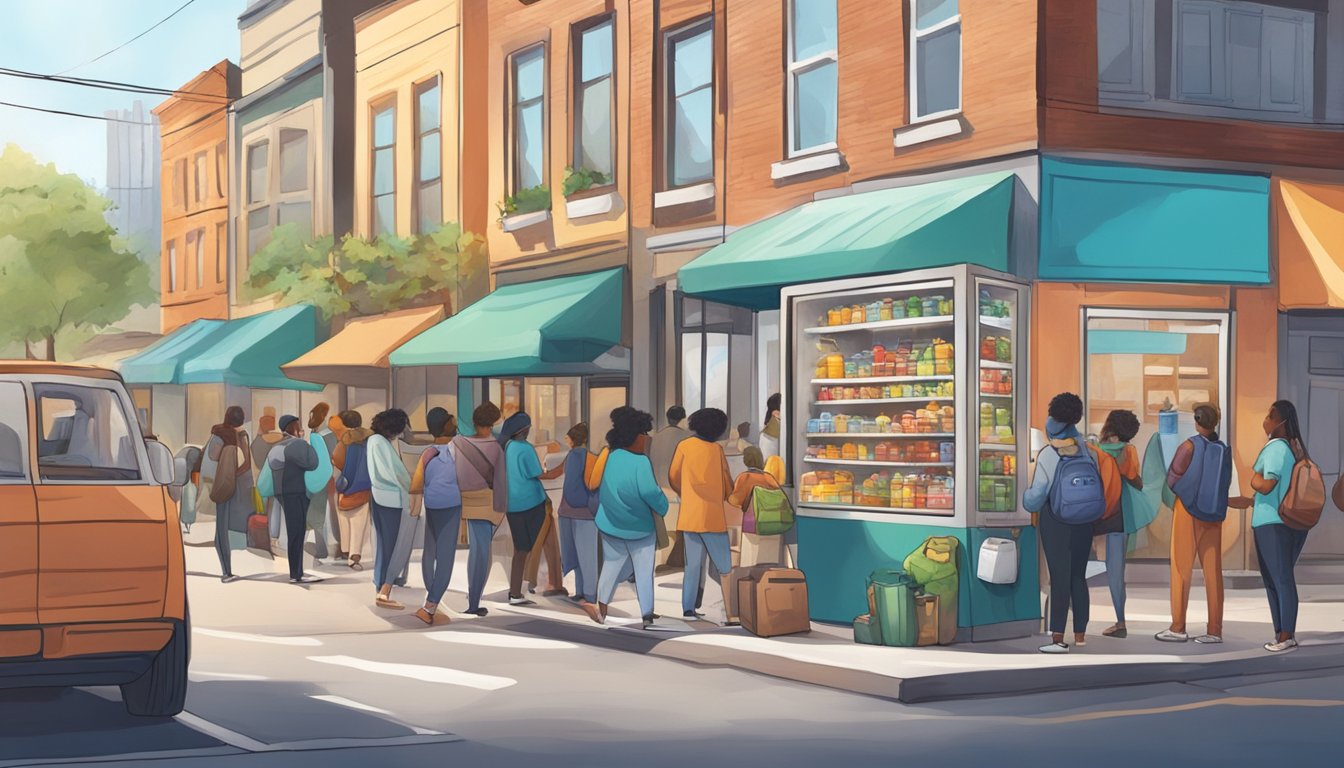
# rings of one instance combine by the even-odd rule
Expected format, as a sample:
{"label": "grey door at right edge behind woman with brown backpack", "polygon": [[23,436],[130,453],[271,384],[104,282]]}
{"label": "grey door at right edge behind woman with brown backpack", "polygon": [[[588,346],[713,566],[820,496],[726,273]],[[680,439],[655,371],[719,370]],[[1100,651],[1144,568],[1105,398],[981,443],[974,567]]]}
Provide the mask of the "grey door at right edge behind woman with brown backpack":
{"label": "grey door at right edge behind woman with brown backpack", "polygon": [[[1286,316],[1288,344],[1279,350],[1279,397],[1297,405],[1306,449],[1333,488],[1344,467],[1344,316]],[[1321,522],[1302,560],[1344,560],[1344,512],[1327,494]]]}

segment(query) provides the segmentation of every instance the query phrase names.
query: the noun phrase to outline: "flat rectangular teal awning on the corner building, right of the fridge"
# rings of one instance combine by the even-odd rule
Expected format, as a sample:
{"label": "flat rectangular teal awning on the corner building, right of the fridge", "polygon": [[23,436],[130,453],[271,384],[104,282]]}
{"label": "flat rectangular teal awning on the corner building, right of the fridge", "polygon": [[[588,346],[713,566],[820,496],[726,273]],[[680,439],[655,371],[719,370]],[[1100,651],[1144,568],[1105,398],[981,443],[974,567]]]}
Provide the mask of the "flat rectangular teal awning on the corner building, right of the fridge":
{"label": "flat rectangular teal awning on the corner building, right of the fridge", "polygon": [[1269,282],[1270,183],[1046,157],[1042,280]]}

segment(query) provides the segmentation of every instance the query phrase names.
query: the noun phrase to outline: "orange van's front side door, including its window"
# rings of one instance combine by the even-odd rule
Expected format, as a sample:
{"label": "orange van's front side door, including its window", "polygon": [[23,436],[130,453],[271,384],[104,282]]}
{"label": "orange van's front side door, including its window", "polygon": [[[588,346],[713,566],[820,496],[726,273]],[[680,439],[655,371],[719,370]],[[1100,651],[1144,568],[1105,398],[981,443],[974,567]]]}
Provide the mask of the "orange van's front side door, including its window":
{"label": "orange van's front side door, including its window", "polygon": [[129,398],[112,382],[32,385],[38,448],[38,617],[163,616],[168,530]]}

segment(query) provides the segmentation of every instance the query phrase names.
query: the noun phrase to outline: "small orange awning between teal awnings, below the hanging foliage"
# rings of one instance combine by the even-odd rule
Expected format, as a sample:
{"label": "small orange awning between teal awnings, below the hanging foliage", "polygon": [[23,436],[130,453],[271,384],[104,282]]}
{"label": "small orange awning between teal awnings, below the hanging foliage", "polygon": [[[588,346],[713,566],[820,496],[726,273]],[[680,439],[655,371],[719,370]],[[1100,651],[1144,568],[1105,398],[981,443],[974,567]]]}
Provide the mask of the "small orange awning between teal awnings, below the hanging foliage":
{"label": "small orange awning between teal awnings, below the hanging foliage", "polygon": [[305,382],[386,389],[387,356],[392,350],[442,319],[442,307],[425,307],[351,320],[339,334],[281,370]]}

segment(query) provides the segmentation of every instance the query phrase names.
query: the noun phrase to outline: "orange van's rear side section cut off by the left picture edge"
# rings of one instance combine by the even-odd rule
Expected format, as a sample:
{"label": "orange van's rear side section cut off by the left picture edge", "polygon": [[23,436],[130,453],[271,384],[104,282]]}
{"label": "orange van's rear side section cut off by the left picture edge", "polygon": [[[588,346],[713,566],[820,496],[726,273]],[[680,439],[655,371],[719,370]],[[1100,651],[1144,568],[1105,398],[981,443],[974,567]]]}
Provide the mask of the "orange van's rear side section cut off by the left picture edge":
{"label": "orange van's rear side section cut off by the left picture edge", "polygon": [[[0,381],[0,627],[38,623],[38,503],[23,385]],[[12,638],[11,638],[12,639]],[[0,656],[5,652],[0,632]]]}

